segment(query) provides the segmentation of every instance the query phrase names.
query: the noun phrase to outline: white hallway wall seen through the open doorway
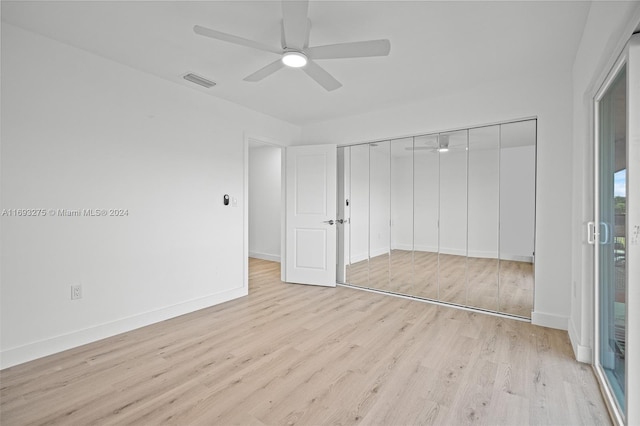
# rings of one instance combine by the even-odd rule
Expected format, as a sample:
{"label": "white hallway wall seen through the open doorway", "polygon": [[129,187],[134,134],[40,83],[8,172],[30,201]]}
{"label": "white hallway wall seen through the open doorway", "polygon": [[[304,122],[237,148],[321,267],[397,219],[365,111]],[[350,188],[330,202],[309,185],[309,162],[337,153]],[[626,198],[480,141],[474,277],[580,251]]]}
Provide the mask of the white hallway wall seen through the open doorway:
{"label": "white hallway wall seen through the open doorway", "polygon": [[249,146],[249,256],[280,262],[282,149]]}

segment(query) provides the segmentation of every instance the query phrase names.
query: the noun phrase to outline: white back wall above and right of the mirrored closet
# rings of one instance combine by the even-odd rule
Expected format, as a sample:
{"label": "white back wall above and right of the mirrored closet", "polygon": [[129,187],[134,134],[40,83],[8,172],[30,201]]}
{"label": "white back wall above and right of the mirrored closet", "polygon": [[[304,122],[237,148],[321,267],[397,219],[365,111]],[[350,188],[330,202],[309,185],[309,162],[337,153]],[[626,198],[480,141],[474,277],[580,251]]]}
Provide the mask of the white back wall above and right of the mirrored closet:
{"label": "white back wall above and right of the mirrored closet", "polygon": [[[568,68],[568,67],[567,67]],[[533,322],[567,328],[571,259],[571,70],[522,75],[473,90],[303,127],[304,143],[355,143],[538,117]]]}

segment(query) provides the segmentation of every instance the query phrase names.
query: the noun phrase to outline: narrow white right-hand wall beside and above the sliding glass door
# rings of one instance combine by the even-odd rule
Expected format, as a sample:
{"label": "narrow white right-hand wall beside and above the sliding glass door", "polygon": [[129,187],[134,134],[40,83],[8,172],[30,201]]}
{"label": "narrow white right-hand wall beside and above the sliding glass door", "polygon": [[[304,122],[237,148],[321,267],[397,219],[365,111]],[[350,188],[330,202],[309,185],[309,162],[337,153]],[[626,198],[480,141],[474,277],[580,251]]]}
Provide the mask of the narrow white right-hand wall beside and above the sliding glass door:
{"label": "narrow white right-hand wall beside and above the sliding glass door", "polygon": [[593,2],[573,65],[572,284],[569,336],[576,357],[593,348],[593,98],[640,21],[638,2]]}

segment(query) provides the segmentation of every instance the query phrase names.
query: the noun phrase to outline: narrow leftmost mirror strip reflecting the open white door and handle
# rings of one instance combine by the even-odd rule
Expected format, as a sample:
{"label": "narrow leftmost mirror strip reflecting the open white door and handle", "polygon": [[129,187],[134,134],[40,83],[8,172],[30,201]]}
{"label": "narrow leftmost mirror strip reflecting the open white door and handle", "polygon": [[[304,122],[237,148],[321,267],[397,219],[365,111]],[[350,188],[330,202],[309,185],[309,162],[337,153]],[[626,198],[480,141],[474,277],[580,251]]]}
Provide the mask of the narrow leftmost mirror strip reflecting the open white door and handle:
{"label": "narrow leftmost mirror strip reflecting the open white door and handle", "polygon": [[[349,206],[347,200],[350,194],[350,147],[338,147],[338,196],[337,196],[337,218],[336,240],[337,240],[337,282],[347,282],[347,267],[349,265]],[[340,223],[340,219],[343,222]]]}

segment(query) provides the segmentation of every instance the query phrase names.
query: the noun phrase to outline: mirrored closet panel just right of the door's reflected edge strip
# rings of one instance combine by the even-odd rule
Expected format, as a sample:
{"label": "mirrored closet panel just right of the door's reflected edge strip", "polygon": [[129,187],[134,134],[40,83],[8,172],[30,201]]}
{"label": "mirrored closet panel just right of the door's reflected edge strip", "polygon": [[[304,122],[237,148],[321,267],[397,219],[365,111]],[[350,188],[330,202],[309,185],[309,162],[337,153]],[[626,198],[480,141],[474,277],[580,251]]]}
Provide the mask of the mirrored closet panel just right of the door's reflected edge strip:
{"label": "mirrored closet panel just right of the door's reflected edge strip", "polygon": [[[369,145],[350,148],[349,262],[346,282],[369,286]],[[345,200],[346,204],[346,200]]]}

